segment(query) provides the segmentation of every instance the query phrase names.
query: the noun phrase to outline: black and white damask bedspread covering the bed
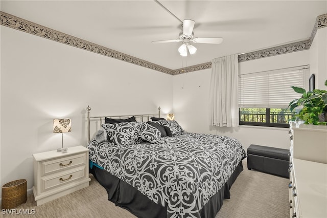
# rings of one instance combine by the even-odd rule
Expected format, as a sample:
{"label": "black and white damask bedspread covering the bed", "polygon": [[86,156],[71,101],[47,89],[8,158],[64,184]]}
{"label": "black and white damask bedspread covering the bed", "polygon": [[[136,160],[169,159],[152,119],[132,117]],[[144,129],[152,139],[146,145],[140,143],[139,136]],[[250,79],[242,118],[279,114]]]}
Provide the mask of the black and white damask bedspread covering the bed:
{"label": "black and white damask bedspread covering the bed", "polygon": [[246,156],[236,139],[195,133],[127,146],[92,140],[88,148],[91,161],[167,206],[167,217],[199,217]]}

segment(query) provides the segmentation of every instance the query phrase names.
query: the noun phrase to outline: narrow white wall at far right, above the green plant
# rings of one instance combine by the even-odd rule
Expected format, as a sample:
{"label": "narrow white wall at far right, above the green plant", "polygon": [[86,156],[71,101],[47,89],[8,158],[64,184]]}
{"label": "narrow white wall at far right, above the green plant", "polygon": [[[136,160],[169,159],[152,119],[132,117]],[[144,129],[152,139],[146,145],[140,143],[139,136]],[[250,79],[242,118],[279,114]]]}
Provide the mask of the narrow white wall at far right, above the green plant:
{"label": "narrow white wall at far right, above the green plant", "polygon": [[327,28],[317,30],[310,47],[310,74],[315,74],[315,88],[327,90]]}

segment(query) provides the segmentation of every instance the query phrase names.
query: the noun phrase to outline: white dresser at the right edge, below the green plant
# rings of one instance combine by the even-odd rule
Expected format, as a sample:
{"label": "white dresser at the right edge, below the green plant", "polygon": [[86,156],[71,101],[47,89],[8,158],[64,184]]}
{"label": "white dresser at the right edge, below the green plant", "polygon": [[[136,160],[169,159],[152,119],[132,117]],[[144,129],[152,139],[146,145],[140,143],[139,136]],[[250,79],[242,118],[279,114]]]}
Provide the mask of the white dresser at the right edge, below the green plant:
{"label": "white dresser at the right edge, below the green plant", "polygon": [[290,122],[290,217],[327,217],[327,127]]}

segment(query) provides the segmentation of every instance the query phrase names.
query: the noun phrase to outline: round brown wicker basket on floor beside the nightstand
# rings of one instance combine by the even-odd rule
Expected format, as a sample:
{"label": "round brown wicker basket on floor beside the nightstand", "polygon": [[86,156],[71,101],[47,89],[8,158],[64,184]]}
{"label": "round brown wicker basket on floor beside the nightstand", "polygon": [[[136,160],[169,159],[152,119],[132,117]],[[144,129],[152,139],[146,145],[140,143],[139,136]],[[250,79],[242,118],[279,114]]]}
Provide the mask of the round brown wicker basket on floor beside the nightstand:
{"label": "round brown wicker basket on floor beside the nightstand", "polygon": [[2,186],[2,209],[14,208],[27,201],[26,180],[15,180]]}

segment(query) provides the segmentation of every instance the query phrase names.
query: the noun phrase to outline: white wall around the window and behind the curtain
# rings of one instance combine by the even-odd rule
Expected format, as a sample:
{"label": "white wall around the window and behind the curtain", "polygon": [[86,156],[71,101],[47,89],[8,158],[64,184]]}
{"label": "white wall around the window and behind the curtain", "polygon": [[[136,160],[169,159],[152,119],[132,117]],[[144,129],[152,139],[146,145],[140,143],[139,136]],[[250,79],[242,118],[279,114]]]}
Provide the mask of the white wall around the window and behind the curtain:
{"label": "white wall around the window and behind the curtain", "polygon": [[[309,64],[309,50],[241,62],[241,74]],[[235,137],[245,149],[250,144],[288,149],[288,129],[273,127],[209,127],[208,94],[211,69],[174,76],[175,119],[188,132]],[[308,78],[309,79],[309,78]]]}

